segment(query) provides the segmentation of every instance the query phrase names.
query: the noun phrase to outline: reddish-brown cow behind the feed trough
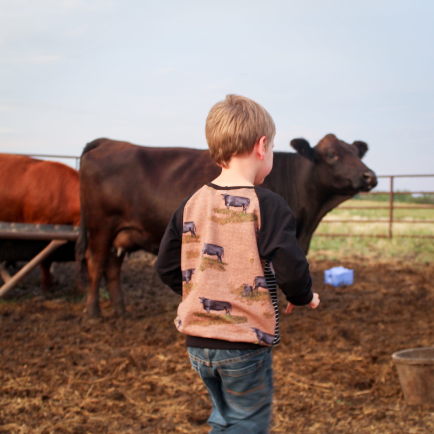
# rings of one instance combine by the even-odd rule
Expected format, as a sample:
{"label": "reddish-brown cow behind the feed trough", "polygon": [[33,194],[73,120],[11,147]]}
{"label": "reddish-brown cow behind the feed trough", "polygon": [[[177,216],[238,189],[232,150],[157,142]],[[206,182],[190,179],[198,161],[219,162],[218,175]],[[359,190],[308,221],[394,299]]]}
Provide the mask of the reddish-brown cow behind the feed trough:
{"label": "reddish-brown cow behind the feed trough", "polygon": [[[0,221],[80,224],[79,175],[66,164],[0,154]],[[41,264],[42,287],[52,284],[51,260]]]}

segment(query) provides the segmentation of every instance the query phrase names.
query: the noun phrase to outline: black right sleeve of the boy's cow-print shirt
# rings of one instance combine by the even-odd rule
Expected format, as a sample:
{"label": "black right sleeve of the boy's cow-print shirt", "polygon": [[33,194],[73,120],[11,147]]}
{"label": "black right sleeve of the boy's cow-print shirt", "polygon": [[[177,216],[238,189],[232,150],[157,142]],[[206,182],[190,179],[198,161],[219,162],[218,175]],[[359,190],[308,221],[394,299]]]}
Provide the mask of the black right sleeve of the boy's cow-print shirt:
{"label": "black right sleeve of the boy's cow-print shirt", "polygon": [[256,188],[260,202],[261,227],[258,250],[270,258],[276,283],[286,299],[296,306],[312,301],[312,278],[309,263],[296,239],[296,218],[289,205],[276,193]]}

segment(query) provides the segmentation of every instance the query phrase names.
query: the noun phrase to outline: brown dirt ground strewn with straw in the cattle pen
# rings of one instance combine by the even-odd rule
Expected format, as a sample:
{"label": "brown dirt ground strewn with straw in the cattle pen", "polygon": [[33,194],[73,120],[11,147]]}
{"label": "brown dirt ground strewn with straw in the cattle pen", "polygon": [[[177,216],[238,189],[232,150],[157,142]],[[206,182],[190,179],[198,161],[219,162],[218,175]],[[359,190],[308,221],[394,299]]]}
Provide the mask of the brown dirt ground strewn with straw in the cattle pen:
{"label": "brown dirt ground strewn with straw in the cattle pen", "polygon": [[[180,297],[153,257],[125,261],[128,316],[103,293],[101,319],[74,296],[73,263],[55,264],[56,290],[39,270],[0,302],[0,433],[207,433],[210,402],[174,325]],[[355,283],[323,285],[344,265]],[[433,433],[434,405],[404,401],[391,354],[434,344],[434,264],[311,261],[321,305],[283,313],[273,349],[273,433]]]}

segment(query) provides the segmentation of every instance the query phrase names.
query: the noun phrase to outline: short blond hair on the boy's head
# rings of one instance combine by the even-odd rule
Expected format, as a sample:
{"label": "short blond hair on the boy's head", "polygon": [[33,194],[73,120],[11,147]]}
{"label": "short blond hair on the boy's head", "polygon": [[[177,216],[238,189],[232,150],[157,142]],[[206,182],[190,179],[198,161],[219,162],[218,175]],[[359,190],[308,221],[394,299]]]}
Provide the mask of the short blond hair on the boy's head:
{"label": "short blond hair on the boy's head", "polygon": [[233,155],[248,154],[262,136],[268,145],[276,127],[262,105],[240,95],[227,95],[211,107],[205,123],[205,135],[211,157],[227,167]]}

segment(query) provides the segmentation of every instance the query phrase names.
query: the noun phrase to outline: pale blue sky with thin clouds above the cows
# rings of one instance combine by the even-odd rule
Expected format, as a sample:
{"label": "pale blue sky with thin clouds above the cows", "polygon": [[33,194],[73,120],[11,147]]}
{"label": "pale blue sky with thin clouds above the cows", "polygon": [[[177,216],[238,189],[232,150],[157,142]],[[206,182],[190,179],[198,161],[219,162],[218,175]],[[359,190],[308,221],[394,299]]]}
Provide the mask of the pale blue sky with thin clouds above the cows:
{"label": "pale blue sky with thin clouds above the cows", "polygon": [[[237,93],[273,116],[276,150],[332,132],[366,141],[377,174],[434,173],[431,0],[0,9],[0,151],[79,155],[98,137],[206,148],[208,110]],[[434,178],[417,185],[434,191]]]}

